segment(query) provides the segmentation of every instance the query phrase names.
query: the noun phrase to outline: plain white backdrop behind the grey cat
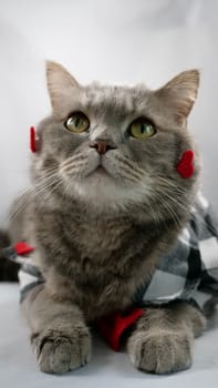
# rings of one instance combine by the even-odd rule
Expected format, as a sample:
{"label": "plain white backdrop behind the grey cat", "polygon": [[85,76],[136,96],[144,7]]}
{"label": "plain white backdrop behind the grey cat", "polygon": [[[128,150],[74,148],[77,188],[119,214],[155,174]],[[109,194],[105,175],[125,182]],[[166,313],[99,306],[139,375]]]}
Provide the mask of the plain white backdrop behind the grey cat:
{"label": "plain white backdrop behind the grey cat", "polygon": [[29,126],[50,113],[44,61],[90,82],[157,88],[201,70],[190,127],[204,192],[218,211],[217,0],[0,0],[0,223],[28,185]]}

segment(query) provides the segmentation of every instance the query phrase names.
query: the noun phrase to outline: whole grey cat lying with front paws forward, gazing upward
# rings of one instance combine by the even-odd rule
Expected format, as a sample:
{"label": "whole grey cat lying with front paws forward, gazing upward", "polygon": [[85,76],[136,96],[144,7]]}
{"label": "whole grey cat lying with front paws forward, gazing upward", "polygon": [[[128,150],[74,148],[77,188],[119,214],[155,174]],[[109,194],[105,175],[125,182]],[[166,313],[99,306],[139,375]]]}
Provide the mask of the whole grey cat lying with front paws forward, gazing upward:
{"label": "whole grey cat lying with front paws forward, gazing upward", "polygon": [[[46,79],[52,114],[37,127],[32,187],[13,204],[9,233],[35,248],[29,263],[41,279],[21,306],[39,367],[63,374],[90,361],[92,324],[128,312],[187,233],[200,177],[187,129],[199,72],[155,91],[84,86],[55,62]],[[191,365],[207,319],[188,297],[160,302],[135,302],[143,313],[126,348],[136,368],[166,374]]]}

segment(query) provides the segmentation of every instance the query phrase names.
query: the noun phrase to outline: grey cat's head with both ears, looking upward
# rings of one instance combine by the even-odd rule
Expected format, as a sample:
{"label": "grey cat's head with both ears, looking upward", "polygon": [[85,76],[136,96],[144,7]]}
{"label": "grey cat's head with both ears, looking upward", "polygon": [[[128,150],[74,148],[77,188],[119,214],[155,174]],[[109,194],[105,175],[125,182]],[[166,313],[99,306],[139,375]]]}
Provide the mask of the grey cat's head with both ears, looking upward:
{"label": "grey cat's head with both ears, looking upward", "polygon": [[[44,191],[92,207],[185,205],[198,176],[176,166],[194,147],[187,118],[199,85],[197,70],[185,71],[152,91],[144,84],[81,85],[60,64],[48,62],[52,115],[38,127],[41,150],[34,176]],[[45,182],[45,183],[44,183]]]}

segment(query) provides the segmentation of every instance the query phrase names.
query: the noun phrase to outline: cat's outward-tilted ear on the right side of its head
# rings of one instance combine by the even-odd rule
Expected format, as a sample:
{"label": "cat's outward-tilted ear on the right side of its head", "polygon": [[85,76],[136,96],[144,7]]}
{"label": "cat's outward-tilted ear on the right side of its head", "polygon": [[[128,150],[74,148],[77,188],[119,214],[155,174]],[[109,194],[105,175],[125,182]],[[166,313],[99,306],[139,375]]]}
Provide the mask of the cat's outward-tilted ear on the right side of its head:
{"label": "cat's outward-tilted ear on the right side of its head", "polygon": [[199,78],[198,70],[187,70],[156,91],[163,103],[173,110],[172,113],[179,124],[186,121],[196,101]]}

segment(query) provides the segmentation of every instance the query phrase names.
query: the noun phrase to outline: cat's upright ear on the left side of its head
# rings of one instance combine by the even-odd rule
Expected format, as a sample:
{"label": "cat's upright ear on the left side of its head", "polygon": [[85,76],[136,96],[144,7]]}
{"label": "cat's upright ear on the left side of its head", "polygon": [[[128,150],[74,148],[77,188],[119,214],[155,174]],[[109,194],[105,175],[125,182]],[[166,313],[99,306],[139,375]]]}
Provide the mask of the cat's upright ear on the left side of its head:
{"label": "cat's upright ear on the left side of its head", "polygon": [[72,93],[80,89],[77,81],[61,64],[46,61],[46,83],[54,114],[63,114]]}

